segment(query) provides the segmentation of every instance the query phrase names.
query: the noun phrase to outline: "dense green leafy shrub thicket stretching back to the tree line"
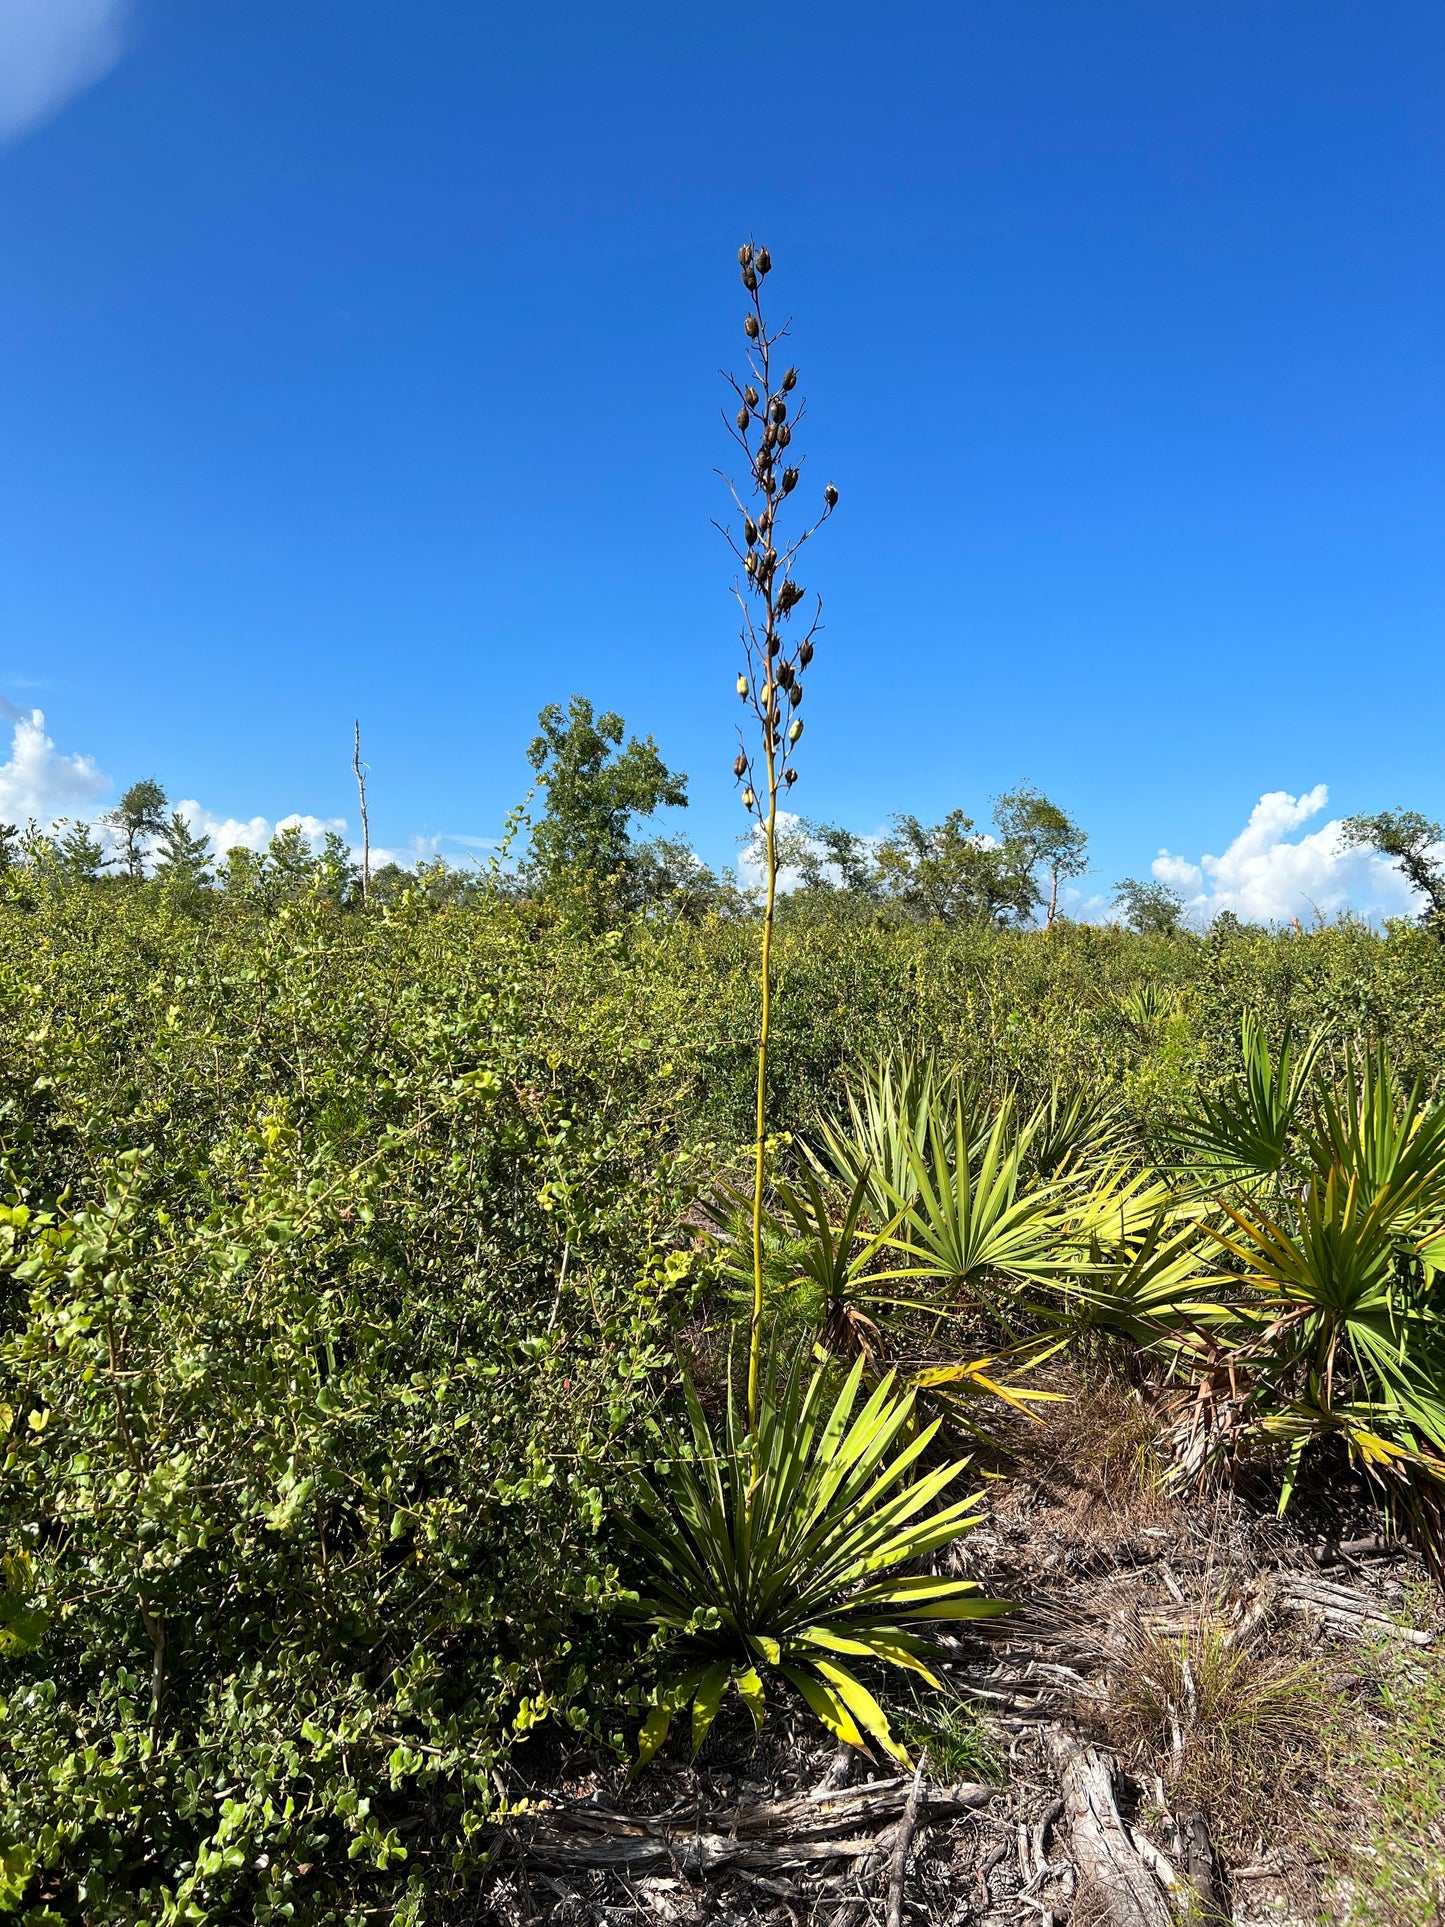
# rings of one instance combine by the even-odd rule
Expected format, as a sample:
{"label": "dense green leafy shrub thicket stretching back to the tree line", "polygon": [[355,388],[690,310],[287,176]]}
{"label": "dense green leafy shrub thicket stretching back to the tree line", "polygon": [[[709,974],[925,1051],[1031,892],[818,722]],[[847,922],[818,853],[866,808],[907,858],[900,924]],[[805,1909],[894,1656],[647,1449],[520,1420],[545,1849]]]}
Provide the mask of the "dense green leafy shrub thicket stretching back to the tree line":
{"label": "dense green leafy shrub thicket stretching back to the tree line", "polygon": [[[784,917],[776,971],[778,1131],[894,1046],[1148,1135],[1241,1010],[1432,1081],[1445,1029],[1405,927]],[[12,888],[0,1906],[435,1917],[509,1755],[620,1729],[618,1520],[755,1037],[746,923]]]}

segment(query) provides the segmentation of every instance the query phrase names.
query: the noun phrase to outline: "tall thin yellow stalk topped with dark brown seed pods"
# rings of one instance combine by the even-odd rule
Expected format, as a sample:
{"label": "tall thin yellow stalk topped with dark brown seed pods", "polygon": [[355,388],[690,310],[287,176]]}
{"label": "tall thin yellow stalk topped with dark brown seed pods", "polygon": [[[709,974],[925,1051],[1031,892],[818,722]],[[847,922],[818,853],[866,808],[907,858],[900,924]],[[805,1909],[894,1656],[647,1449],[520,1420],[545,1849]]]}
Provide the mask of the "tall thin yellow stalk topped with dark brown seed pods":
{"label": "tall thin yellow stalk topped with dark brown seed pods", "polygon": [[[813,661],[823,601],[813,599],[811,619],[792,628],[794,611],[807,592],[794,576],[803,545],[819,532],[838,505],[838,489],[823,489],[823,513],[815,520],[800,516],[796,532],[784,534],[794,491],[801,480],[801,455],[792,441],[805,414],[798,397],[798,370],[778,370],[780,343],[788,322],[769,328],[763,314],[763,283],[773,272],[765,247],[751,241],[738,249],[742,285],[749,308],[744,316],[748,372],[724,376],[738,409],[728,432],[748,461],[748,480],[738,484],[722,472],[732,505],[742,518],[717,526],[736,555],[742,574],[732,594],[742,611],[744,667],[738,696],[751,713],[749,726],[738,730],[738,759],[732,775],[742,786],[744,809],[753,817],[763,854],[763,1012],[757,1029],[757,1104],[753,1135],[753,1308],[748,1337],[748,1432],[757,1434],[763,1359],[763,1191],[767,1185],[767,1071],[773,1041],[773,925],[778,900],[778,796],[798,780],[796,753],[803,734],[803,678]],[[719,470],[721,472],[721,470]]]}

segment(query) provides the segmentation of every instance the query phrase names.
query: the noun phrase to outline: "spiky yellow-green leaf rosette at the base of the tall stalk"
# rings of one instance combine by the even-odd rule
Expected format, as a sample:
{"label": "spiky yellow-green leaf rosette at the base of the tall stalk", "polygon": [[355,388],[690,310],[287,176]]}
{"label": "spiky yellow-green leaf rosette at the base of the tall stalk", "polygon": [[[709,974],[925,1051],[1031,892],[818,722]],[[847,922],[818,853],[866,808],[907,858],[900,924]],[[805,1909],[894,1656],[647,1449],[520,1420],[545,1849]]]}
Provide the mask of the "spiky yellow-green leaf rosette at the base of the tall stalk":
{"label": "spiky yellow-green leaf rosette at the base of the tall stalk", "polygon": [[636,1611],[678,1642],[640,1763],[688,1705],[697,1750],[728,1690],[761,1721],[769,1678],[796,1686],[838,1740],[906,1761],[857,1663],[936,1686],[929,1626],[1008,1611],[973,1580],[909,1571],[977,1524],[981,1493],[944,1499],[967,1461],[923,1468],[938,1420],[915,1426],[892,1374],[859,1407],[863,1359],[830,1384],[801,1357],[767,1364],[755,1422],[728,1397],[719,1432],[688,1386],[686,1428],[653,1478],[638,1474],[651,1590]]}

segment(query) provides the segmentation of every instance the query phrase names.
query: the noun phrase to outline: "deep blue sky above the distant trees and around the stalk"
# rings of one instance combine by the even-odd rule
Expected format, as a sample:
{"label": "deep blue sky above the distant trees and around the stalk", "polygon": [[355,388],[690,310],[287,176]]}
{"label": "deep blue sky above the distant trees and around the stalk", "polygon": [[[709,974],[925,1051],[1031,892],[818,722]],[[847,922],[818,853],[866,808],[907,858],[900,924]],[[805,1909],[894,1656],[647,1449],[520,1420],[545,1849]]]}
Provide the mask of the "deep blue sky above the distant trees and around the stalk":
{"label": "deep blue sky above the distant trees and around the stalk", "polygon": [[0,802],[355,827],[360,715],[460,854],[582,690],[730,861],[753,229],[842,491],[798,805],[1389,908],[1308,838],[1445,815],[1443,89],[1424,0],[0,0]]}

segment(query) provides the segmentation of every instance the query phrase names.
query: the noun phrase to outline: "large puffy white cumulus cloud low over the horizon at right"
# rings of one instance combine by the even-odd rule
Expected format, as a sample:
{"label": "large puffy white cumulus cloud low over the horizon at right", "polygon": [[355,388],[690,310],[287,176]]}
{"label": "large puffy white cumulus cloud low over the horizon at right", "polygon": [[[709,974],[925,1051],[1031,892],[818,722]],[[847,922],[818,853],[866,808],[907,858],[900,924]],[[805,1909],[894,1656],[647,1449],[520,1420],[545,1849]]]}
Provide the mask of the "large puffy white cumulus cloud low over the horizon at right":
{"label": "large puffy white cumulus cloud low over the horizon at right", "polygon": [[1270,790],[1223,856],[1200,856],[1193,863],[1160,850],[1154,877],[1179,890],[1191,917],[1200,923],[1222,910],[1247,923],[1308,921],[1316,913],[1333,917],[1347,910],[1378,923],[1418,911],[1418,892],[1387,858],[1345,842],[1343,819],[1335,817],[1304,836],[1293,834],[1327,802],[1324,782],[1302,796]]}

